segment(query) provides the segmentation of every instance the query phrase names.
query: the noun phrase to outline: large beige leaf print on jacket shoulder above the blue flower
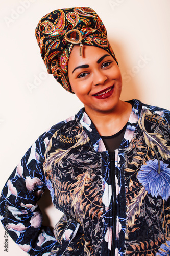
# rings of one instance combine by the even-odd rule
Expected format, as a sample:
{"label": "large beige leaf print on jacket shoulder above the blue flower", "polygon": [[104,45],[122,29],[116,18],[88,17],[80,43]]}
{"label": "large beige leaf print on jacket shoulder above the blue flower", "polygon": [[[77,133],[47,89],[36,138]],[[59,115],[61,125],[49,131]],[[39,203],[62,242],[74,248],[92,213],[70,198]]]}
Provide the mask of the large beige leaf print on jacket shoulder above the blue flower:
{"label": "large beige leaf print on jacket shoulder above the blue flower", "polygon": [[154,146],[157,146],[161,157],[167,160],[170,158],[170,146],[167,146],[167,140],[164,139],[158,127],[157,130],[155,128],[156,131],[154,133],[148,132],[145,127],[145,120],[149,120],[153,124],[154,122],[161,123],[163,127],[165,126],[164,119],[161,116],[153,115],[148,109],[144,109],[138,123],[143,131],[145,143],[152,149],[154,149]]}

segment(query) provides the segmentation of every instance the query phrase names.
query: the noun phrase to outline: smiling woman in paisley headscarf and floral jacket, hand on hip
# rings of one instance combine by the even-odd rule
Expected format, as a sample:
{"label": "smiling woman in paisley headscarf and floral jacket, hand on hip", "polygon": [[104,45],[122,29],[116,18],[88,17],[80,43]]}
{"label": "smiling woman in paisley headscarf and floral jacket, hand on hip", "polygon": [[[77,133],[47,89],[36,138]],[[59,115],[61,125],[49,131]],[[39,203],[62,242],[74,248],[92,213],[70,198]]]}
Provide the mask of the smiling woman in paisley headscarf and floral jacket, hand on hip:
{"label": "smiling woman in paisley headscarf and floral jacket, hand on hip", "polygon": [[[119,99],[118,63],[91,8],[45,15],[36,38],[48,72],[84,108],[21,159],[2,191],[5,228],[30,255],[168,255],[169,111]],[[37,206],[46,188],[64,214],[53,231]]]}

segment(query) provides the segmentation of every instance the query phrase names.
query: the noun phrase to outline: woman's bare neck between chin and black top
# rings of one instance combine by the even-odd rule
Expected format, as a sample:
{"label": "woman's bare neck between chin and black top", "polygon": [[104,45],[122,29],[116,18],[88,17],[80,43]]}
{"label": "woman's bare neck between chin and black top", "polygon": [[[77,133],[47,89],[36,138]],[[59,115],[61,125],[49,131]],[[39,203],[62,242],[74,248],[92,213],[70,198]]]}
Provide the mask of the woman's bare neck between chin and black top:
{"label": "woman's bare neck between chin and black top", "polygon": [[[86,111],[86,109],[85,109]],[[101,136],[111,136],[119,132],[128,122],[132,105],[119,100],[110,112],[86,111]]]}

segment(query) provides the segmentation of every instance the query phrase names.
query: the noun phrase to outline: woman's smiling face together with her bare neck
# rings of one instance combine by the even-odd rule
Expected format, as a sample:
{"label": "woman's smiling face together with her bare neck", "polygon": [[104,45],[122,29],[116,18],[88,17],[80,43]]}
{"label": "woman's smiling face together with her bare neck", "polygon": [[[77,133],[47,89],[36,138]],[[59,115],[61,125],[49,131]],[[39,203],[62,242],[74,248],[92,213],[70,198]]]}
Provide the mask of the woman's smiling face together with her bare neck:
{"label": "woman's smiling face together with her bare neck", "polygon": [[122,77],[115,59],[104,49],[74,46],[68,61],[71,90],[103,136],[120,131],[128,122],[132,105],[120,100]]}

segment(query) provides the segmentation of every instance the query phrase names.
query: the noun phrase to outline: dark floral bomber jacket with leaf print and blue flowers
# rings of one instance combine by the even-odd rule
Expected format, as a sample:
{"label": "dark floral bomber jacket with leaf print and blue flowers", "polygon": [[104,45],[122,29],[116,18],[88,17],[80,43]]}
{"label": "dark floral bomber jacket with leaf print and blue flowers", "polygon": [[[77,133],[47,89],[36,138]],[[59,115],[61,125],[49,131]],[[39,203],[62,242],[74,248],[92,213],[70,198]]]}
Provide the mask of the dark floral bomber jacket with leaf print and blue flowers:
{"label": "dark floral bomber jacket with leaf print and blue flowers", "polygon": [[[134,100],[114,170],[84,109],[54,125],[2,191],[10,236],[29,255],[169,255],[169,120],[169,111]],[[63,212],[53,231],[41,225],[37,205],[46,188]]]}

